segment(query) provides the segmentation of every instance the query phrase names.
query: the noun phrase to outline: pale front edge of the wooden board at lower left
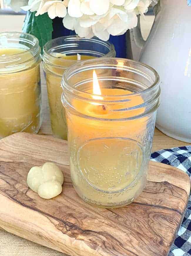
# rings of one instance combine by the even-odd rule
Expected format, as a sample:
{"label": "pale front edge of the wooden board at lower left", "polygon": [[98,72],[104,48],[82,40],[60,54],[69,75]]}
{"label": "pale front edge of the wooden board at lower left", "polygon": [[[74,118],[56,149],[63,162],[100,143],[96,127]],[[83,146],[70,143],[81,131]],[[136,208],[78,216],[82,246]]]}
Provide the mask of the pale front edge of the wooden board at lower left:
{"label": "pale front edge of the wooden board at lower left", "polygon": [[[2,191],[0,204],[5,205],[5,196]],[[11,208],[14,208],[14,211],[10,211]],[[21,214],[23,210],[25,214]],[[46,214],[22,206],[6,197],[6,205],[0,215],[0,227],[5,231],[72,256],[102,255],[98,250],[90,248],[85,242],[63,234],[55,227],[56,224],[56,220],[46,216]],[[38,229],[36,229],[37,226]]]}

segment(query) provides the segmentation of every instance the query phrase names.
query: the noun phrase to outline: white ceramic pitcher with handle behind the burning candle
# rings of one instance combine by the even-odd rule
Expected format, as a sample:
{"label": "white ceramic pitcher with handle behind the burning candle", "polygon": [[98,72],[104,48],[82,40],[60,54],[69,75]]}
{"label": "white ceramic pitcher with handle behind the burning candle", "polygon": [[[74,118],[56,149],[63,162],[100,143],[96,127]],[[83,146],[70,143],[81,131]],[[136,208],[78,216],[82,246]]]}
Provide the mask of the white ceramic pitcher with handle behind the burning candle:
{"label": "white ceramic pitcher with handle behind the burning candle", "polygon": [[156,127],[170,137],[191,142],[191,6],[187,0],[160,0],[155,14],[146,42],[140,26],[131,30],[131,48],[136,60],[160,75]]}

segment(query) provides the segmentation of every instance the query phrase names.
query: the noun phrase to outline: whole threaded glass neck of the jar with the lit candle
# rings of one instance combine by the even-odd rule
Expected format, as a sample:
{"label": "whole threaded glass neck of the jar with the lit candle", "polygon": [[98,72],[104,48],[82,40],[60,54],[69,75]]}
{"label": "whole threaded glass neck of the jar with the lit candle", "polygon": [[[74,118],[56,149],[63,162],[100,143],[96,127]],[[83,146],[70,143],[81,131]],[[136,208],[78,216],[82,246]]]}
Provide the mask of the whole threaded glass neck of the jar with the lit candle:
{"label": "whole threaded glass neck of the jar with the lit candle", "polygon": [[[93,94],[92,89],[89,90],[93,84],[92,73],[86,73],[86,71],[96,71],[99,69],[98,81],[102,81],[101,90],[102,88],[121,88],[130,92],[115,95]],[[107,69],[114,70],[114,72],[107,73]],[[85,72],[84,75],[83,72]],[[82,73],[81,76],[79,76],[80,73]],[[131,76],[131,74],[135,76]],[[74,80],[72,79],[73,76]],[[106,81],[112,82],[108,83]],[[76,100],[77,102],[85,102],[90,105],[95,105],[96,101],[96,105],[102,105],[105,109],[109,107],[110,112],[125,114],[124,118],[120,116],[117,119],[114,116],[99,117],[94,114],[90,115],[94,120],[117,121],[142,118],[148,115],[148,113],[154,112],[160,104],[159,75],[155,69],[138,61],[124,58],[96,58],[76,63],[64,72],[61,87],[63,89],[61,101],[65,108],[71,112],[78,113],[77,115],[83,116],[84,118],[88,118],[88,116],[86,113],[81,112],[76,107],[77,105],[73,104]],[[84,89],[79,89],[79,87]]]}

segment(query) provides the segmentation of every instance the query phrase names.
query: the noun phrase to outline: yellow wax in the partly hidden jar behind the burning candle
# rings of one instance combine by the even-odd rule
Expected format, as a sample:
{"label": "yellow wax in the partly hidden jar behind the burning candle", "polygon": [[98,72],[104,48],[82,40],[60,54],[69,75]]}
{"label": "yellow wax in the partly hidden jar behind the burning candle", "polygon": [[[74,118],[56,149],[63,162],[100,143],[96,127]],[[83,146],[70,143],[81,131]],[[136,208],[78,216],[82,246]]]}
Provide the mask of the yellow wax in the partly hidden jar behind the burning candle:
{"label": "yellow wax in the partly hidden jar behind the burning candle", "polygon": [[[67,140],[67,125],[66,125],[66,117],[65,110],[61,103],[61,79],[63,75],[63,68],[68,67],[71,64],[74,64],[75,61],[79,60],[79,56],[77,55],[66,55],[61,53],[52,54],[54,57],[51,60],[52,65],[48,66],[48,70],[46,71],[46,84],[48,91],[48,101],[50,106],[50,118],[51,118],[51,127],[53,135],[57,138],[61,138]],[[93,56],[80,55],[80,60],[86,60],[95,58]],[[63,59],[66,62],[63,63]],[[67,62],[68,60],[68,62]],[[71,62],[73,60],[73,62]],[[58,68],[57,66],[63,66],[63,68]]]}

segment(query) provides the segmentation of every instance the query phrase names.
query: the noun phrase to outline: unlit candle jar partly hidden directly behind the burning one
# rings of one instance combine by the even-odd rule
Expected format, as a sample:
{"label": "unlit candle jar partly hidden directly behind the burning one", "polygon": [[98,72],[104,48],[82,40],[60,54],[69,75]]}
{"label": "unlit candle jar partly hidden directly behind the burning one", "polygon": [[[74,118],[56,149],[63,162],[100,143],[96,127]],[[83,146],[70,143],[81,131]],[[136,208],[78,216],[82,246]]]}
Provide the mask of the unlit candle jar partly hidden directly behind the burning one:
{"label": "unlit candle jar partly hidden directly behind the burning one", "polygon": [[43,49],[43,68],[46,72],[48,101],[53,135],[67,140],[65,110],[60,101],[62,75],[66,68],[79,60],[115,57],[114,46],[97,38],[63,36],[46,43]]}

